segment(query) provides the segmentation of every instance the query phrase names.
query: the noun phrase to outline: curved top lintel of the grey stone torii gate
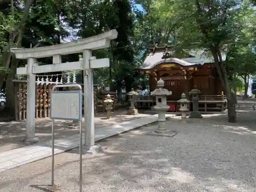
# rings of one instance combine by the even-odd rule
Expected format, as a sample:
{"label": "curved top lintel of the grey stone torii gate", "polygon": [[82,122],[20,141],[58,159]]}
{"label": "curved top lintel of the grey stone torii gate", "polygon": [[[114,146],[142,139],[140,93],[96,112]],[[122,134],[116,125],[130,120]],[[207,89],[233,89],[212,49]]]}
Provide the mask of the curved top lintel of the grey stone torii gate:
{"label": "curved top lintel of the grey stone torii gate", "polygon": [[82,50],[98,50],[108,48],[110,40],[117,38],[117,31],[110,30],[99,35],[76,41],[65,42],[58,45],[18,49],[11,48],[11,52],[15,53],[18,59],[51,57],[53,55],[67,55],[73,53],[81,53]]}

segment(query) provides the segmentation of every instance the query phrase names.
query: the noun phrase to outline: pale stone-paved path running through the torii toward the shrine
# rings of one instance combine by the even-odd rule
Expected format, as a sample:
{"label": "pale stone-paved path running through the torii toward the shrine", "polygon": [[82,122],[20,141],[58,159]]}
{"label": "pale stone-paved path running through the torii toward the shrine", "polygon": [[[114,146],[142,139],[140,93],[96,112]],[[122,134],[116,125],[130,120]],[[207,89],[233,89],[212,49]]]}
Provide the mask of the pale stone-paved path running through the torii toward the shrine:
{"label": "pale stone-paved path running through the torii toward the shrine", "polygon": [[[166,115],[166,118],[173,115]],[[138,127],[156,122],[157,115],[147,116],[140,119],[133,119],[119,124],[103,126],[102,129],[95,129],[95,141],[99,141],[117,134],[121,134]],[[54,140],[55,155],[71,150],[79,146],[79,135],[73,135],[62,139]],[[84,134],[83,134],[84,143]],[[16,148],[0,154],[0,172],[20,165],[31,163],[51,156],[51,141],[33,144],[25,147]]]}

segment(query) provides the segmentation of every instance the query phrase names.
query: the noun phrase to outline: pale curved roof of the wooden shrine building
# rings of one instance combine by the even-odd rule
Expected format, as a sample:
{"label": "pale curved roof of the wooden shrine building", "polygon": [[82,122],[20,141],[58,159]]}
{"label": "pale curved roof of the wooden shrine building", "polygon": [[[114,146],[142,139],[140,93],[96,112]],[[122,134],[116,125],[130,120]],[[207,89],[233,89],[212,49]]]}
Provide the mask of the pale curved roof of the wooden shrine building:
{"label": "pale curved roof of the wooden shrine building", "polygon": [[[170,51],[170,55],[172,55],[173,51]],[[147,55],[146,59],[139,67],[139,69],[152,69],[155,66],[163,63],[177,63],[178,65],[184,67],[196,67],[203,66],[205,63],[214,63],[214,58],[212,56],[208,56],[204,54],[204,51],[189,51],[189,57],[185,58],[176,58],[176,57],[165,57],[165,51],[160,52],[151,52]],[[222,60],[226,60],[226,53],[222,53]]]}

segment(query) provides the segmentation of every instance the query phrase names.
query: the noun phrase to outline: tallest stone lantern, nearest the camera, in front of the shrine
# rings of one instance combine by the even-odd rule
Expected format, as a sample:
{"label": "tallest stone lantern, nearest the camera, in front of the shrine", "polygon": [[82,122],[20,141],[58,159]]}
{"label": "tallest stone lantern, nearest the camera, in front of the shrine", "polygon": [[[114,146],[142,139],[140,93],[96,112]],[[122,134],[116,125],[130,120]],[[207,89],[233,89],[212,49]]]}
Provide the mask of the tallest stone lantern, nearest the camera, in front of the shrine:
{"label": "tallest stone lantern, nearest the camera, in front of the shrine", "polygon": [[165,113],[169,109],[166,102],[166,96],[172,95],[172,92],[163,88],[164,81],[161,78],[157,81],[157,87],[158,89],[151,92],[152,96],[156,96],[156,105],[154,106],[154,109],[158,112],[158,129],[156,133],[166,133]]}

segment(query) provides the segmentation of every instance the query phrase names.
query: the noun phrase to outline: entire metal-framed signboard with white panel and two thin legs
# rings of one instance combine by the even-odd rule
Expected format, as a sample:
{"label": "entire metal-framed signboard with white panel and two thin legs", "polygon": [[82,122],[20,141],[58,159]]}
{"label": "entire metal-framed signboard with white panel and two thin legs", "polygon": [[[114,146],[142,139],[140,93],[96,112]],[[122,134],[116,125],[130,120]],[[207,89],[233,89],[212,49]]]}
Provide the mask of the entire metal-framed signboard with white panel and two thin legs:
{"label": "entire metal-framed signboard with white panel and two thin legs", "polygon": [[[55,91],[56,88],[75,87],[79,91]],[[51,91],[51,112],[52,119],[52,186],[54,186],[54,120],[80,121],[80,192],[82,192],[82,88],[79,84],[57,84]]]}

